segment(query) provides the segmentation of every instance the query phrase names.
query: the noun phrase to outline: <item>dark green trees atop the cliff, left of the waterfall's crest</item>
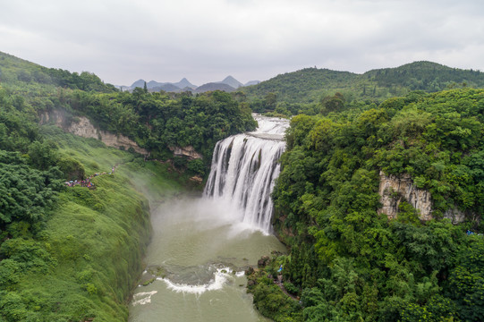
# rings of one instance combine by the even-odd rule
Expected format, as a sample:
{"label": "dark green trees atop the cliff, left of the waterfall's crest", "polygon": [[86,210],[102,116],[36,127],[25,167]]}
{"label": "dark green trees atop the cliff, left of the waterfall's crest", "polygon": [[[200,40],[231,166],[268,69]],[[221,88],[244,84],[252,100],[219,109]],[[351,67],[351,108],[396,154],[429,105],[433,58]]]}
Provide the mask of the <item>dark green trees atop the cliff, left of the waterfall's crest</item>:
{"label": "dark green trees atop the cliff, left of the waterfall's crest", "polygon": [[103,130],[132,138],[156,158],[169,154],[170,147],[191,146],[209,162],[217,140],[257,125],[250,108],[222,91],[171,98],[137,88],[132,93],[73,92],[69,99],[76,106],[72,112],[89,115]]}

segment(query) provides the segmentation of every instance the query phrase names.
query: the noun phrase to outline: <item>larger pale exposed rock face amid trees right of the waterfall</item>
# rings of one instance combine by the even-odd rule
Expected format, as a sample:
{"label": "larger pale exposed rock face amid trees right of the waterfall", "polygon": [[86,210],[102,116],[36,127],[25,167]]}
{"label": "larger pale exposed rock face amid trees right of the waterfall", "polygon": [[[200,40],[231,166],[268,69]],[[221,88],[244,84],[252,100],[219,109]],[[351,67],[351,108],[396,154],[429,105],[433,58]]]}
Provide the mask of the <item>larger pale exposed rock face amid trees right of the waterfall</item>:
{"label": "larger pale exposed rock face amid trees right of the waterfall", "polygon": [[432,198],[430,192],[418,189],[409,174],[403,174],[401,178],[395,175],[386,175],[380,171],[380,185],[378,190],[383,207],[378,209],[378,214],[386,214],[388,218],[398,215],[398,205],[407,201],[413,208],[420,211],[420,220],[432,219]]}

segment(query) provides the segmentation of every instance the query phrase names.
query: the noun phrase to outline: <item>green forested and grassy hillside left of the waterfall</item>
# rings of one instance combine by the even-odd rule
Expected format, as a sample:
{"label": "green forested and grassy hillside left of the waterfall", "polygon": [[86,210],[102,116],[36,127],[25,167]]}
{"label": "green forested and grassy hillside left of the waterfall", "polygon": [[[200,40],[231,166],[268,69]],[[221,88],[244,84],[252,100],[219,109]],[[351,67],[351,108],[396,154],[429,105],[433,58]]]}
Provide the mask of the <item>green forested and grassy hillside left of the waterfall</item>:
{"label": "green forested and grassy hillside left of the waterfall", "polygon": [[[6,54],[0,72],[0,321],[127,320],[149,241],[148,194],[163,199],[203,176],[217,140],[255,128],[250,109],[220,91],[120,92],[89,72]],[[88,117],[129,136],[157,160],[39,125],[59,110],[68,123]],[[170,150],[189,145],[204,159]]]}

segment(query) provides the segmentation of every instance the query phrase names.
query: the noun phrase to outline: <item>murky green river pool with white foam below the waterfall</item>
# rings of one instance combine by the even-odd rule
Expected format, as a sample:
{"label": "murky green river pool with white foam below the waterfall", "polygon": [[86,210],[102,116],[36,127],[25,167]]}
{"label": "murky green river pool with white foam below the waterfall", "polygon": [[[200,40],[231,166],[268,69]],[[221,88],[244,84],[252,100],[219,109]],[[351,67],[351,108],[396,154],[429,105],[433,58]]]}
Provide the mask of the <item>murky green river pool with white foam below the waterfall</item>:
{"label": "murky green river pool with white foam below the waterfall", "polygon": [[154,211],[146,261],[165,278],[136,288],[129,321],[266,321],[246,293],[243,271],[284,245],[222,218],[225,208],[210,199],[179,199]]}

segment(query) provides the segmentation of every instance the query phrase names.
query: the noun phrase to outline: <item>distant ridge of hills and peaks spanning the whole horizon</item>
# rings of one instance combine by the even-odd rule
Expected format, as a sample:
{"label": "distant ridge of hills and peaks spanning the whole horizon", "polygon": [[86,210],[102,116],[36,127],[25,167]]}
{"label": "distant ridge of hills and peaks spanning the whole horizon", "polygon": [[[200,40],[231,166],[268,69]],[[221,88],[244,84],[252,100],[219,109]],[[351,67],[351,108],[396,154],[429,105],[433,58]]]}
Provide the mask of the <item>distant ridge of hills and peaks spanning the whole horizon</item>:
{"label": "distant ridge of hills and peaks spanning the whole horizon", "polygon": [[[382,100],[387,97],[404,96],[413,90],[436,92],[442,89],[461,87],[484,88],[484,73],[479,70],[463,70],[429,61],[417,61],[398,67],[373,69],[368,72],[340,72],[329,69],[305,68],[295,72],[278,74],[264,80],[251,80],[239,88],[239,81],[226,88],[223,85],[234,79],[225,77],[222,81],[209,82],[205,89],[239,89],[253,101],[264,99],[269,93],[276,94],[276,101],[287,103],[315,103],[324,97],[341,92],[347,97]],[[36,81],[46,86],[70,89],[101,90],[110,92],[117,89],[132,90],[144,87],[145,80],[136,80],[132,86],[114,86],[100,80],[92,72],[69,72],[62,69],[47,68],[36,63],[0,52],[0,81],[2,84],[30,83]],[[218,83],[216,86],[214,83]],[[199,87],[183,78],[178,82],[147,82],[150,91],[190,90]],[[202,88],[202,89],[204,89]]]}

